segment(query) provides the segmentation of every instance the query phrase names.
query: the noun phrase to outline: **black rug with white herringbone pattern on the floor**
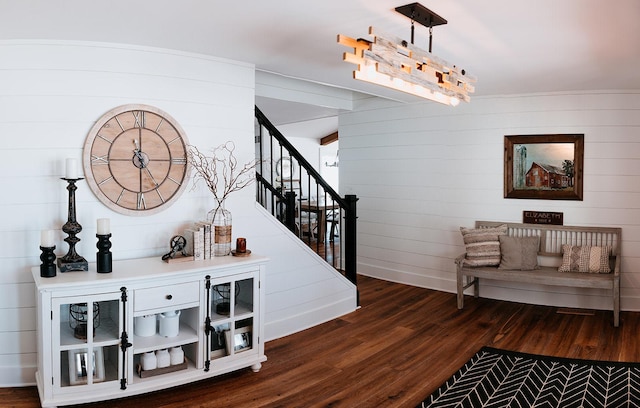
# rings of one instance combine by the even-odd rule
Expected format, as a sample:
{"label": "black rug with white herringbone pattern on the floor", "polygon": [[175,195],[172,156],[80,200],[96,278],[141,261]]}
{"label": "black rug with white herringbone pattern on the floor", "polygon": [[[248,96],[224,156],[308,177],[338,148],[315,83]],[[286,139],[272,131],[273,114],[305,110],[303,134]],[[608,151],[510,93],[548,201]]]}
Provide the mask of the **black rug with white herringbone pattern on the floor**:
{"label": "black rug with white herringbone pattern on the floor", "polygon": [[483,347],[418,407],[640,407],[640,363]]}

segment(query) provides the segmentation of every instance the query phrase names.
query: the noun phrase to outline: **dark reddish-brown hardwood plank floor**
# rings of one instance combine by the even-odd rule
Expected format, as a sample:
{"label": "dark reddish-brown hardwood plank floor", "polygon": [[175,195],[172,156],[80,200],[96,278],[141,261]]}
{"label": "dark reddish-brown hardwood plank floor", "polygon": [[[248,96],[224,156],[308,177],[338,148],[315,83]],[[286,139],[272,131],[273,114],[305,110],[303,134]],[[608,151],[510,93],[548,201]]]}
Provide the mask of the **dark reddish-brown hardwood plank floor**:
{"label": "dark reddish-brown hardwood plank floor", "polygon": [[[557,308],[455,295],[359,277],[362,307],[266,344],[268,361],[161,392],[84,407],[413,407],[480,347],[640,361],[640,313]],[[115,390],[114,393],[117,393]],[[0,405],[37,407],[34,387],[0,389]]]}

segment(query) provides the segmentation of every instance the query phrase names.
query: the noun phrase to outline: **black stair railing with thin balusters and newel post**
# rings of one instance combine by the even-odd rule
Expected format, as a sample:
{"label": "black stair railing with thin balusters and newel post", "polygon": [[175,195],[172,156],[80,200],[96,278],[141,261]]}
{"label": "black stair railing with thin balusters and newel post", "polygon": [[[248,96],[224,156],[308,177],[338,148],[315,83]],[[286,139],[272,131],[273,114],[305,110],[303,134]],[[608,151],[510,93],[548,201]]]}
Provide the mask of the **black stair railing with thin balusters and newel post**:
{"label": "black stair railing with thin balusters and newel post", "polygon": [[358,198],[340,197],[257,106],[255,117],[257,201],[357,285]]}

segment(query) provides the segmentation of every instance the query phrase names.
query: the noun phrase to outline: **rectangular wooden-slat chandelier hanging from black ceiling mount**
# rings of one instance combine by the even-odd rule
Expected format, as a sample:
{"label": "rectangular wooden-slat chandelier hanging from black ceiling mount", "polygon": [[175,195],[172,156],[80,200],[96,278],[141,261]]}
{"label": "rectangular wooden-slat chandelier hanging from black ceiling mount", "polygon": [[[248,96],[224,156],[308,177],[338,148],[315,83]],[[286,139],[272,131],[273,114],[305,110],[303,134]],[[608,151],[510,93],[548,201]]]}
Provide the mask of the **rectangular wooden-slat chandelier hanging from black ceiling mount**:
{"label": "rectangular wooden-slat chandelier hanging from black ceiling mount", "polygon": [[[411,44],[369,27],[372,41],[338,34],[338,43],[353,48],[343,60],[356,64],[354,79],[406,92],[445,105],[469,102],[476,78],[431,53],[432,32],[447,20],[421,4],[397,7],[396,11],[411,19]],[[429,51],[413,45],[414,22],[429,27]]]}

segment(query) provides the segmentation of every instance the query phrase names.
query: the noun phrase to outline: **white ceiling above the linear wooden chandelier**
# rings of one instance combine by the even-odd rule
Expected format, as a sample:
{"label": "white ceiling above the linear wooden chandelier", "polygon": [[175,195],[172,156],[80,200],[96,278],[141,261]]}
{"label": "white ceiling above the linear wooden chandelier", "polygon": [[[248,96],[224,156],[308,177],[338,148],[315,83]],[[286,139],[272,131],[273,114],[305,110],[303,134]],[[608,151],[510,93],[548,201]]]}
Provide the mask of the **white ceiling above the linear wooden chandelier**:
{"label": "white ceiling above the linear wooden chandelier", "polygon": [[[369,26],[410,39],[406,0],[0,0],[0,40],[59,39],[177,49],[379,95],[415,97],[352,79],[337,34]],[[478,77],[474,96],[640,89],[638,0],[422,0],[448,24],[433,53]],[[415,45],[428,48],[416,26]],[[262,99],[274,124],[335,115]],[[455,108],[452,108],[455,109]]]}

